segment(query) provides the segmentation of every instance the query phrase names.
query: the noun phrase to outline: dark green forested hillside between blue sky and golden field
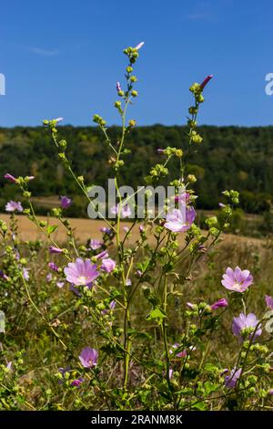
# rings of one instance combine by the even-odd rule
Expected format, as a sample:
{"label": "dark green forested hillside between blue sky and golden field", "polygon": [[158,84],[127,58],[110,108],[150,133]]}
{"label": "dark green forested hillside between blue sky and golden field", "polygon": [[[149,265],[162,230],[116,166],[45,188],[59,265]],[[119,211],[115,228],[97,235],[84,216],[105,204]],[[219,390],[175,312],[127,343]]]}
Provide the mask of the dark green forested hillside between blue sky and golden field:
{"label": "dark green forested hillside between blue sky and golden field", "polygon": [[[118,141],[120,129],[111,127],[109,136]],[[187,173],[197,176],[197,208],[217,208],[221,192],[236,189],[240,206],[250,214],[268,211],[273,200],[273,127],[202,126],[203,137],[198,151],[190,154]],[[104,164],[108,148],[104,136],[96,127],[59,127],[59,137],[67,141],[74,170],[86,177],[88,184],[106,185],[112,177],[112,167]],[[7,199],[16,197],[16,188],[6,183],[4,174],[35,175],[36,196],[76,195],[75,183],[66,174],[52,149],[53,142],[43,127],[0,129],[0,209]],[[154,125],[137,127],[128,135],[128,162],[122,169],[123,182],[134,188],[143,183],[146,172],[160,162],[157,148],[185,148],[187,127]],[[55,154],[53,154],[55,153]],[[174,162],[169,169],[173,177],[179,174]],[[34,189],[33,189],[34,191]],[[79,197],[77,197],[79,198]],[[81,201],[76,201],[76,207]],[[72,209],[73,210],[73,209]],[[83,209],[84,214],[86,211]],[[73,215],[73,214],[72,214]]]}

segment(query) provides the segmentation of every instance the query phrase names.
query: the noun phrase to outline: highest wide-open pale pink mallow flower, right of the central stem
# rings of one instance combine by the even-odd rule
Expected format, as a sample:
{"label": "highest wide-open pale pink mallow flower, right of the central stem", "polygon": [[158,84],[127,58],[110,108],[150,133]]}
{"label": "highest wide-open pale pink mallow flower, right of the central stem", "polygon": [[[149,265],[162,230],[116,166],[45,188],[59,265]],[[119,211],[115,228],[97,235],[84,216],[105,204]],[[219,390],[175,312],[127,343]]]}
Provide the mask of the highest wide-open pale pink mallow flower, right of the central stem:
{"label": "highest wide-open pale pink mallow flower, right of the central stem", "polygon": [[187,206],[183,211],[177,208],[167,213],[165,227],[173,233],[185,232],[193,224],[196,211],[192,206]]}

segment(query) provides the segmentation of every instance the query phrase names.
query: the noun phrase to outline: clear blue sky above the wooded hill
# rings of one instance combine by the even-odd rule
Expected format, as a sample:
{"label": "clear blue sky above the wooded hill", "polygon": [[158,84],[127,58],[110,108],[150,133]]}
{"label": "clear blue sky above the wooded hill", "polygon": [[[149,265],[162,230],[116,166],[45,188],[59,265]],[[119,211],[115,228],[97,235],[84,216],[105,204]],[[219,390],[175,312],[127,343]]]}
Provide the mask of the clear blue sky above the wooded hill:
{"label": "clear blue sky above the wooded hill", "polygon": [[199,123],[273,124],[270,0],[2,0],[0,126],[65,117],[118,123],[122,49],[145,41],[136,65],[139,125],[183,124],[188,87],[212,73]]}

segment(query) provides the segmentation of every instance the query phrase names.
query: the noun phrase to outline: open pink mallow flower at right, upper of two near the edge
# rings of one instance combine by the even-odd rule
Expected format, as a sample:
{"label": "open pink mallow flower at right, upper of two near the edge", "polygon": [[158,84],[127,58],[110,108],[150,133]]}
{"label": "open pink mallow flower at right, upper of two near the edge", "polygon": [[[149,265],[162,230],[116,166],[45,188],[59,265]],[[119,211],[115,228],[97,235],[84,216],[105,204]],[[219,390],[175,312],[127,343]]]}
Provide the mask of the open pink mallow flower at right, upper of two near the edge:
{"label": "open pink mallow flower at right, upper of two near the edge", "polygon": [[252,285],[253,277],[248,269],[241,270],[236,267],[234,270],[230,267],[227,268],[226,274],[223,275],[222,285],[235,292],[245,292],[247,288]]}

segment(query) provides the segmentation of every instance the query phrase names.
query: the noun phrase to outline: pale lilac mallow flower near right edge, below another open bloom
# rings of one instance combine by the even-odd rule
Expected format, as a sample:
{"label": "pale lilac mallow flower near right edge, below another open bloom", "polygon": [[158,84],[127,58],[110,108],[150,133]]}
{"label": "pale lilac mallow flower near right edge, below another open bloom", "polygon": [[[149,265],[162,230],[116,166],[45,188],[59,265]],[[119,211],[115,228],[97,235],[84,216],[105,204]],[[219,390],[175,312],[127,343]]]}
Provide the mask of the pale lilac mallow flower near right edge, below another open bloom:
{"label": "pale lilac mallow flower near right edge, below another open bloom", "polygon": [[244,336],[244,330],[247,330],[248,332],[248,340],[251,340],[252,338],[255,340],[262,333],[262,330],[261,328],[258,328],[258,325],[259,322],[254,313],[249,313],[248,315],[240,313],[238,318],[233,319],[232,331],[240,341],[246,338]]}

